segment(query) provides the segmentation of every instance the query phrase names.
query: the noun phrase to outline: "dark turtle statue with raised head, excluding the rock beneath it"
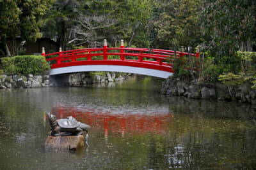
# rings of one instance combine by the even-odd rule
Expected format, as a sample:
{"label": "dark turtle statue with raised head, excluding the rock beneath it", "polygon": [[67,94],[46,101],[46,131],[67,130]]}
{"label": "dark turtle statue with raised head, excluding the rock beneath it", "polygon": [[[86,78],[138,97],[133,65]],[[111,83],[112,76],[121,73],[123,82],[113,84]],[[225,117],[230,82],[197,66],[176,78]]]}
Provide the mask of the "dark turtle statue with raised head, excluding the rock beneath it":
{"label": "dark turtle statue with raised head, excluding the rock beneath it", "polygon": [[[74,117],[60,118],[56,120],[55,115],[48,113],[49,123],[51,125],[51,136],[61,136],[61,135],[80,135],[83,131],[88,133],[91,129],[90,125],[77,122]],[[87,137],[87,134],[86,134]]]}

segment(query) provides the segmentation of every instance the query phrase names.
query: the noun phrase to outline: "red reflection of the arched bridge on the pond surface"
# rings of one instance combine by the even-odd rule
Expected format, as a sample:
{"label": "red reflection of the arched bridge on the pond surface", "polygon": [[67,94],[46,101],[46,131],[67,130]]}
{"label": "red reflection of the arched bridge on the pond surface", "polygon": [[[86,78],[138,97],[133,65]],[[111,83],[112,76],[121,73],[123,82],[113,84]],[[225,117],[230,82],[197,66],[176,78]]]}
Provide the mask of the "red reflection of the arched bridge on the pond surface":
{"label": "red reflection of the arched bridge on the pond surface", "polygon": [[80,122],[92,126],[92,131],[121,134],[121,136],[164,133],[166,127],[172,121],[170,113],[111,113],[111,111],[93,110],[85,107],[72,108],[57,106],[52,108],[52,114],[57,118],[65,118],[70,115]]}

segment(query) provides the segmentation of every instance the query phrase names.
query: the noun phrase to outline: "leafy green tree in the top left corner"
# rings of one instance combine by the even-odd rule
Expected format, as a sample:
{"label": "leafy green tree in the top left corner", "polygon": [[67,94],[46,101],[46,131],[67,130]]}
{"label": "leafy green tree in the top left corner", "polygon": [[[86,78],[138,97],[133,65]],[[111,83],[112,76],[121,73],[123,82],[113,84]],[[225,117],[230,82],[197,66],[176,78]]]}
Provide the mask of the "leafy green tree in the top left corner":
{"label": "leafy green tree in the top left corner", "polygon": [[24,40],[40,38],[42,16],[52,0],[0,1],[0,55],[10,56],[6,40],[20,36]]}

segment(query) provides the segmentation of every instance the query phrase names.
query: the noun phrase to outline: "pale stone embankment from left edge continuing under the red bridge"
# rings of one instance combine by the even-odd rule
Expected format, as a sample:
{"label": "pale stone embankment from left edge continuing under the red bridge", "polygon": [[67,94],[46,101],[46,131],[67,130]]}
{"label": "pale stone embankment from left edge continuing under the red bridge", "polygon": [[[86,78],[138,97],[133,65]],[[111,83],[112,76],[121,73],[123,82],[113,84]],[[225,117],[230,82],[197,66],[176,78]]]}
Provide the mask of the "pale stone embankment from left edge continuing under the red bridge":
{"label": "pale stone embankment from left edge continuing under the red bridge", "polygon": [[[67,86],[84,86],[92,83],[100,83],[106,81],[124,80],[129,74],[116,73],[73,73],[65,75],[65,85]],[[62,85],[56,83],[48,74],[28,76],[20,75],[0,75],[0,89],[6,88],[31,88],[31,87],[53,87]],[[64,84],[63,84],[64,85]]]}

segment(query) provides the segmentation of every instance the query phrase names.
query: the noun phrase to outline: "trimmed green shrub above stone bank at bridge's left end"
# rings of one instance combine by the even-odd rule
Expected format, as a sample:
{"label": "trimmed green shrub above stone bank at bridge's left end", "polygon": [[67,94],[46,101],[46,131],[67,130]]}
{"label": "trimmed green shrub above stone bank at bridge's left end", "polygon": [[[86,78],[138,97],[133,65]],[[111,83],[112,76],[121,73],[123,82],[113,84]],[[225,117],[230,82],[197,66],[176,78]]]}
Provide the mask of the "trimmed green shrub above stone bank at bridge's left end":
{"label": "trimmed green shrub above stone bank at bridge's left end", "polygon": [[50,69],[49,63],[41,55],[3,57],[1,62],[6,74],[41,74]]}

